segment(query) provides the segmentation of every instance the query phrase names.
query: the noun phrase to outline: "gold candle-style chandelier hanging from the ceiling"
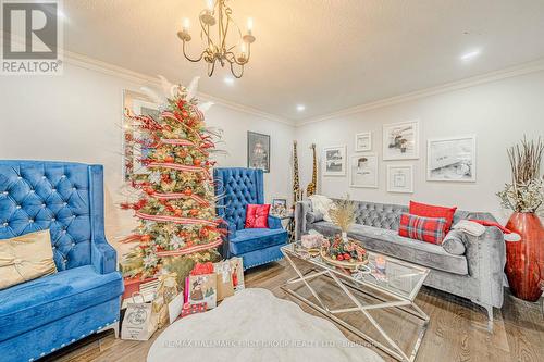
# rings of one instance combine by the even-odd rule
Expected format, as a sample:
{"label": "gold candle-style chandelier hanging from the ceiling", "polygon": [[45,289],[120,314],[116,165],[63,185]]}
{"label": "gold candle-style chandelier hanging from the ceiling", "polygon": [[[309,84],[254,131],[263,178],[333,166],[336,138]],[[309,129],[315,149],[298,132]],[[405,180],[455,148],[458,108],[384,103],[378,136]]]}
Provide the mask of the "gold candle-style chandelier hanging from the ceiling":
{"label": "gold candle-style chandelier hanging from the ceiling", "polygon": [[[244,65],[249,62],[251,55],[251,43],[255,41],[255,36],[251,34],[254,22],[250,17],[248,18],[247,33],[243,35],[240,28],[232,18],[233,11],[226,5],[226,1],[207,0],[207,8],[198,16],[201,28],[200,37],[207,43],[200,57],[190,58],[185,49],[186,43],[191,39],[188,18],[184,20],[183,29],[177,33],[177,36],[183,41],[183,54],[188,61],[197,63],[203,59],[208,63],[208,76],[213,75],[215,63],[219,62],[222,67],[228,65],[231,73],[236,78],[240,78],[244,75]],[[217,29],[214,29],[215,26]],[[226,37],[228,30],[233,28],[237,32],[238,41],[228,46]],[[212,33],[217,34],[217,36],[212,36]],[[237,47],[239,47],[238,54],[235,53]]]}

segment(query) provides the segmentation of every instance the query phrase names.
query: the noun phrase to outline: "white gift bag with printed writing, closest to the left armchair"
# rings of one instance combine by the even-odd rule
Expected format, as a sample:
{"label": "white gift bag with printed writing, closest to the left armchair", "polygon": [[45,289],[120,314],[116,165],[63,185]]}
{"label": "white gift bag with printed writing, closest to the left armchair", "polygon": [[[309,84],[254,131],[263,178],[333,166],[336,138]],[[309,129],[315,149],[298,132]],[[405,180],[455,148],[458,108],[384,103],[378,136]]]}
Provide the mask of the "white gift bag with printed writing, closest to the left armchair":
{"label": "white gift bag with printed writing, closest to the left armchair", "polygon": [[[139,297],[139,301],[136,301]],[[134,294],[126,307],[121,329],[121,339],[148,340],[157,330],[157,313],[151,303],[146,303],[140,294]]]}

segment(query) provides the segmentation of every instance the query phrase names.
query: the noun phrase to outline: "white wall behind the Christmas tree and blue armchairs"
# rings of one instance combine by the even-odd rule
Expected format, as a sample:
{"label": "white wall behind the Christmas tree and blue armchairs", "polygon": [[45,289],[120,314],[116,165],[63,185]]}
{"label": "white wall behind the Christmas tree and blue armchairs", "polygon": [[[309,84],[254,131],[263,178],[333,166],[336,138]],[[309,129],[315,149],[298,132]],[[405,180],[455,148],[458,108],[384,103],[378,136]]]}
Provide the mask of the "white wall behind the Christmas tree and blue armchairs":
{"label": "white wall behind the Christmas tree and blue armchairs", "polygon": [[[106,230],[113,244],[134,226],[131,212],[120,211],[115,203],[122,200],[123,90],[138,91],[141,85],[76,65],[66,65],[63,76],[0,79],[0,159],[103,164]],[[247,130],[271,135],[267,198],[290,195],[294,127],[222,105],[207,113],[207,123],[224,130],[221,148],[228,155],[218,159],[219,166],[246,166]]]}

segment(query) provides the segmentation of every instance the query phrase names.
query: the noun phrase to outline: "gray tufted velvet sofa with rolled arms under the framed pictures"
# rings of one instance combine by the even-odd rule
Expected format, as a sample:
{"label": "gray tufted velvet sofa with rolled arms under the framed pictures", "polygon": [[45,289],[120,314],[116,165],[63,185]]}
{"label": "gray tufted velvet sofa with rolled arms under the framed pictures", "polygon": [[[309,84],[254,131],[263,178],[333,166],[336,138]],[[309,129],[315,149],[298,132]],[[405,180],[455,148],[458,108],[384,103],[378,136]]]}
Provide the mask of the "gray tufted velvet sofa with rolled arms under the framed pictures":
{"label": "gray tufted velvet sofa with rolled arms under the framed pictures", "polygon": [[[503,305],[506,246],[497,227],[486,227],[480,237],[462,233],[466,251],[461,255],[446,252],[442,246],[398,236],[400,214],[408,207],[398,204],[355,201],[356,224],[348,236],[369,250],[423,265],[431,270],[424,285],[470,299],[485,308],[491,322],[493,307]],[[489,213],[457,211],[454,225],[461,219],[495,221]],[[310,229],[331,236],[339,233],[332,223],[312,211],[310,201],[301,201],[295,210],[296,238]]]}

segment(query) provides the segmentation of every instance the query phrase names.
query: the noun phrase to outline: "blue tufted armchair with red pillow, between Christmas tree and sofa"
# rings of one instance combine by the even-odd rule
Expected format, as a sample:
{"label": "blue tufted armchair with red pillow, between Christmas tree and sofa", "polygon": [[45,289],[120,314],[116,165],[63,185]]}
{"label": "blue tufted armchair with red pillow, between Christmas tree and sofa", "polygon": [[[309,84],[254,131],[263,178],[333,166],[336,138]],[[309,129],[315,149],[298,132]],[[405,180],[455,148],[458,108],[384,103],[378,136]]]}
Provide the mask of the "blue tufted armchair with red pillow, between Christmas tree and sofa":
{"label": "blue tufted armchair with red pillow, between Christmas tree and sofa", "polygon": [[269,228],[244,228],[246,205],[264,203],[262,170],[215,168],[213,178],[217,212],[228,227],[224,257],[243,258],[245,270],[282,259],[280,248],[287,242],[287,232],[280,219],[269,216]]}

